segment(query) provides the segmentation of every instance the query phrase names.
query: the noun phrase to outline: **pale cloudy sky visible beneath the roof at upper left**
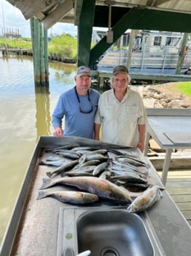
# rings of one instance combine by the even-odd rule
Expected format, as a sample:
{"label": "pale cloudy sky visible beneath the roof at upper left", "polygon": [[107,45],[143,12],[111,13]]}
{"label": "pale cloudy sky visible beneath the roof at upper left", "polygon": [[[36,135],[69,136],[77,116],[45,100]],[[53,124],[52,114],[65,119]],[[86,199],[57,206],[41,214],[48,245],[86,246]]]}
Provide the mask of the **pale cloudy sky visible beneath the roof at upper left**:
{"label": "pale cloudy sky visible beneath the roof at upper left", "polygon": [[[21,11],[6,0],[0,0],[0,36],[6,32],[18,32],[22,37],[30,37],[30,19],[26,20]],[[48,36],[58,36],[62,33],[77,35],[74,24],[56,23],[48,30]]]}

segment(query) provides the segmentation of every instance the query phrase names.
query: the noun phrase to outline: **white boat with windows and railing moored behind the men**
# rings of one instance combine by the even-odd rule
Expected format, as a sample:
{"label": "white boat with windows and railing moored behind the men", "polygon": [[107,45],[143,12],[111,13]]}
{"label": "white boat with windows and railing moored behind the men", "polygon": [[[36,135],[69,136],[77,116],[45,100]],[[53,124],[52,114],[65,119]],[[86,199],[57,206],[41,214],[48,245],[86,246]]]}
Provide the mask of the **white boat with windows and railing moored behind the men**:
{"label": "white boat with windows and railing moored behind the men", "polygon": [[[124,36],[127,39],[122,39],[121,47],[116,50],[115,45],[113,45],[98,61],[98,71],[110,72],[116,65],[127,65],[128,56],[130,56],[130,72],[175,73],[184,33],[140,30],[135,36],[132,53],[128,53],[128,48],[130,48],[130,38],[128,39],[128,37],[130,35]],[[191,67],[190,37],[188,37],[183,50],[181,73],[186,72]]]}

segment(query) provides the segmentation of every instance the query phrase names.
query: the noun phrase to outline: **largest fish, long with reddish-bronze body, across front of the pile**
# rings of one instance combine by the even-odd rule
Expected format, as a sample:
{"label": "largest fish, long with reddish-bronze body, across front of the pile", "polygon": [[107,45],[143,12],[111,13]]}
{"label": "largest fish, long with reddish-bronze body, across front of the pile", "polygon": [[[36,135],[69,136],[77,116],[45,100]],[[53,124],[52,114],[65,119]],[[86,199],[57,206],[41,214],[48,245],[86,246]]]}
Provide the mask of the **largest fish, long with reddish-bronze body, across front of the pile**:
{"label": "largest fish, long with reddish-bronze body, across front of the pile", "polygon": [[130,203],[131,197],[127,192],[99,177],[62,177],[55,179],[43,179],[40,189],[50,188],[58,184],[75,186],[83,191],[97,194],[98,197],[111,200],[113,203]]}

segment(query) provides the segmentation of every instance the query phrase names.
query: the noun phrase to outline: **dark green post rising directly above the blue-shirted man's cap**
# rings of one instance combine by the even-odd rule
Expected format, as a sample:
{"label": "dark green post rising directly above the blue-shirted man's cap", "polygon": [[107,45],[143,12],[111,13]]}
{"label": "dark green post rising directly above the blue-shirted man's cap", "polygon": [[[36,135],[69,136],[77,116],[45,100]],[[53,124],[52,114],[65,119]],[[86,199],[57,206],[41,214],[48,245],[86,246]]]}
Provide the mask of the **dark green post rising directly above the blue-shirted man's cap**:
{"label": "dark green post rising directly above the blue-shirted man's cap", "polygon": [[77,66],[89,66],[92,41],[93,22],[96,0],[82,0],[78,22],[78,60]]}

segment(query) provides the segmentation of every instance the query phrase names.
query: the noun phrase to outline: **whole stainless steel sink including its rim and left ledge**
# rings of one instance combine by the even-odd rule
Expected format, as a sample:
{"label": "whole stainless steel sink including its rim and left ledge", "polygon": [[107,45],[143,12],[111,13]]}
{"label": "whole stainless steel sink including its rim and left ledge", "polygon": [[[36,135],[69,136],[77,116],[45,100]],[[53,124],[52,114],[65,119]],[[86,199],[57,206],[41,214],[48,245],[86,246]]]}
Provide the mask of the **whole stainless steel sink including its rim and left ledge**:
{"label": "whole stainless steel sink including its rim and left ledge", "polygon": [[91,251],[90,256],[165,255],[146,213],[123,207],[60,209],[57,256]]}

